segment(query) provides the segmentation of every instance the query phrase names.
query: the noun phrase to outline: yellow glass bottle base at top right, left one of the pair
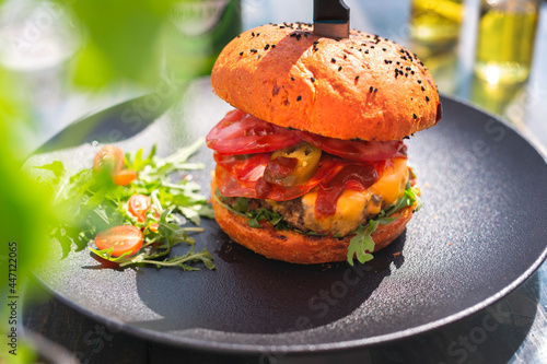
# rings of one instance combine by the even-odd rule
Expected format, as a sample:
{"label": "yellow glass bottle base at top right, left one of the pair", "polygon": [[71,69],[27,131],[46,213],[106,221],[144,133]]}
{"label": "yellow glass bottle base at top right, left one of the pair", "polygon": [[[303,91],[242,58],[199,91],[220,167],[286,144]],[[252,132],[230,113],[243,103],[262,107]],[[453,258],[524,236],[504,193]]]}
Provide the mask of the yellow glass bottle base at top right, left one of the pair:
{"label": "yellow glass bottle base at top right, left one of the pair", "polygon": [[464,16],[464,0],[412,0],[410,36],[429,44],[455,43]]}

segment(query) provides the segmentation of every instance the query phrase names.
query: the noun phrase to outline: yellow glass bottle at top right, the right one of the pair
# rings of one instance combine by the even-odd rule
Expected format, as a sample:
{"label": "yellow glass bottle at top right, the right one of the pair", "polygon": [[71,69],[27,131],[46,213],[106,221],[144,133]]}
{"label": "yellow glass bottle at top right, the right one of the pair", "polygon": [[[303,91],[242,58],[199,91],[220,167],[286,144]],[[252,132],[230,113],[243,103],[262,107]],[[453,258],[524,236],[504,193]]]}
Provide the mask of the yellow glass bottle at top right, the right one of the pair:
{"label": "yellow glass bottle at top right, the right one of the pair", "polygon": [[481,0],[475,74],[488,83],[528,78],[536,37],[538,0]]}

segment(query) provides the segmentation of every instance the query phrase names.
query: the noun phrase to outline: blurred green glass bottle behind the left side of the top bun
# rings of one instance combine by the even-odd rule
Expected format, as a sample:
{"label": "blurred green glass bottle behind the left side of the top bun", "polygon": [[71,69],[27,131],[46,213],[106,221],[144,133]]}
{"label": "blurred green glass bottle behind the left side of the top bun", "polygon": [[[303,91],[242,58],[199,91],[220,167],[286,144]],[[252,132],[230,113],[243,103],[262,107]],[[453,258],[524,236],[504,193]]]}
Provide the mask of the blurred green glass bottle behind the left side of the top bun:
{"label": "blurred green glass bottle behind the left side of the top bun", "polygon": [[222,48],[241,32],[240,0],[181,0],[166,25],[166,71],[178,79],[209,74]]}

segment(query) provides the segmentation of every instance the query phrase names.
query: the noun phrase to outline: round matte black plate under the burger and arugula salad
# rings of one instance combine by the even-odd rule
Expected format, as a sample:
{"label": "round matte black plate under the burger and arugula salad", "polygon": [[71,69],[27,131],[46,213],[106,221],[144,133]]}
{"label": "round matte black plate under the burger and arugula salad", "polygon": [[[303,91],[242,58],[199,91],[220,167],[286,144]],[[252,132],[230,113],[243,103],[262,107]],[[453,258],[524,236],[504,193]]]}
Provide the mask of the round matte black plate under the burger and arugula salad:
{"label": "round matte black plate under the burger and arugula salad", "polygon": [[[85,250],[59,260],[60,247],[53,244],[54,263],[37,275],[91,317],[199,350],[358,348],[468,316],[516,287],[544,260],[547,166],[504,124],[456,101],[442,102],[440,124],[408,141],[424,206],[405,233],[364,266],[268,260],[231,243],[207,221],[198,248],[213,254],[214,271],[101,269]],[[91,162],[96,148],[90,142],[121,137],[126,150],[158,142],[166,154],[203,137],[230,108],[207,80],[166,113],[159,105],[159,96],[147,96],[82,121],[84,133],[73,127],[30,163],[62,158],[75,167]],[[55,151],[56,145],[65,149]],[[196,179],[209,193],[211,153],[202,148],[195,160],[207,164]]]}

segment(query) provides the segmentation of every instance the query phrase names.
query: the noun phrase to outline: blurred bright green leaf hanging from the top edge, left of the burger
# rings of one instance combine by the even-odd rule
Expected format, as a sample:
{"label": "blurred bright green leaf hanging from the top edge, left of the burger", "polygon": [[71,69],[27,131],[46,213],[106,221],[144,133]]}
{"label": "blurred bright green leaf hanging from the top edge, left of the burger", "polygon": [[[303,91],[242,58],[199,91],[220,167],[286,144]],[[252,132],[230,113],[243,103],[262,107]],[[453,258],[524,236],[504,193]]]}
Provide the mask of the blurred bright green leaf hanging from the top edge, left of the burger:
{"label": "blurred bright green leaf hanging from the top edge, left of the burger", "polygon": [[115,79],[155,82],[160,72],[161,31],[175,1],[78,0],[70,3],[86,32],[74,81],[102,86]]}

